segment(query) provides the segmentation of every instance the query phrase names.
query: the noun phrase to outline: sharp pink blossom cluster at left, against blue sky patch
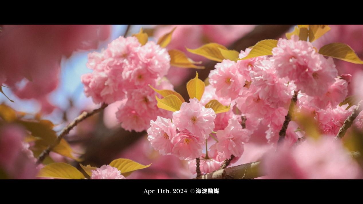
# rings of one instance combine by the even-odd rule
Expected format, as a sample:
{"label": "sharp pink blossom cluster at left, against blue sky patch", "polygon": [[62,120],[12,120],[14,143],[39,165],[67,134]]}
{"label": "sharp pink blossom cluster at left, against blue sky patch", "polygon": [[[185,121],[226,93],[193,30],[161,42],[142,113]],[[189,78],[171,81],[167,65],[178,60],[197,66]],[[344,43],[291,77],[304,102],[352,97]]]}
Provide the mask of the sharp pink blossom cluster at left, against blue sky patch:
{"label": "sharp pink blossom cluster at left, against blue sky patch", "polygon": [[170,68],[166,49],[149,41],[141,45],[136,37],[119,37],[101,53],[88,55],[87,67],[92,73],[82,75],[85,94],[94,103],[122,101],[116,112],[122,128],[141,132],[156,116],[168,116],[156,106],[154,90],[173,89],[164,79]]}

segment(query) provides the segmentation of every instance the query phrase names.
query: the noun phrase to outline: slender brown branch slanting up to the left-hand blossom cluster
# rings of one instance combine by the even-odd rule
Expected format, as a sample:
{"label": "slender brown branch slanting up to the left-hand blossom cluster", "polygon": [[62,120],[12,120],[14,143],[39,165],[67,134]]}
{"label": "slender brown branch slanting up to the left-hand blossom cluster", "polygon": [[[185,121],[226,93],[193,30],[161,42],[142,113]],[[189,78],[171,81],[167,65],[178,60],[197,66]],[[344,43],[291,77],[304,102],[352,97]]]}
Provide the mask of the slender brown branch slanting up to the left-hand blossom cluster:
{"label": "slender brown branch slanting up to the left-hand blossom cluster", "polygon": [[67,125],[65,128],[63,128],[62,132],[59,134],[59,136],[57,137],[57,140],[54,141],[54,143],[50,146],[48,146],[38,157],[37,160],[37,164],[40,164],[44,161],[45,157],[50,153],[50,151],[52,151],[52,149],[57,146],[60,141],[62,140],[62,138],[67,135],[69,133],[70,130],[72,130],[79,122],[85,120],[86,118],[94,115],[95,113],[98,113],[99,111],[105,109],[107,107],[107,104],[102,104],[100,108],[98,109],[94,109],[91,112],[86,112],[84,111],[83,113],[81,113],[81,115],[79,115],[78,117],[74,118],[74,120]]}

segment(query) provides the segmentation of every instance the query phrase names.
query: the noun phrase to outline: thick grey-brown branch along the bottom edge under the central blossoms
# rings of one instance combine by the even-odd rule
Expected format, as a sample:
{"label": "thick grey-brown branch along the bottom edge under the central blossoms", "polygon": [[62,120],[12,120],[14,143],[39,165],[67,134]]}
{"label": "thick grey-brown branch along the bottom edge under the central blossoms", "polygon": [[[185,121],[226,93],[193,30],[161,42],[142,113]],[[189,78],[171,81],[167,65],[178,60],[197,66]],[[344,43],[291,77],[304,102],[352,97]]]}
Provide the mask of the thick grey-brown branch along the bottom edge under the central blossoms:
{"label": "thick grey-brown branch along the bottom edge under the central blossoms", "polygon": [[263,176],[258,170],[259,165],[260,162],[251,162],[232,166],[201,175],[199,179],[254,179]]}

